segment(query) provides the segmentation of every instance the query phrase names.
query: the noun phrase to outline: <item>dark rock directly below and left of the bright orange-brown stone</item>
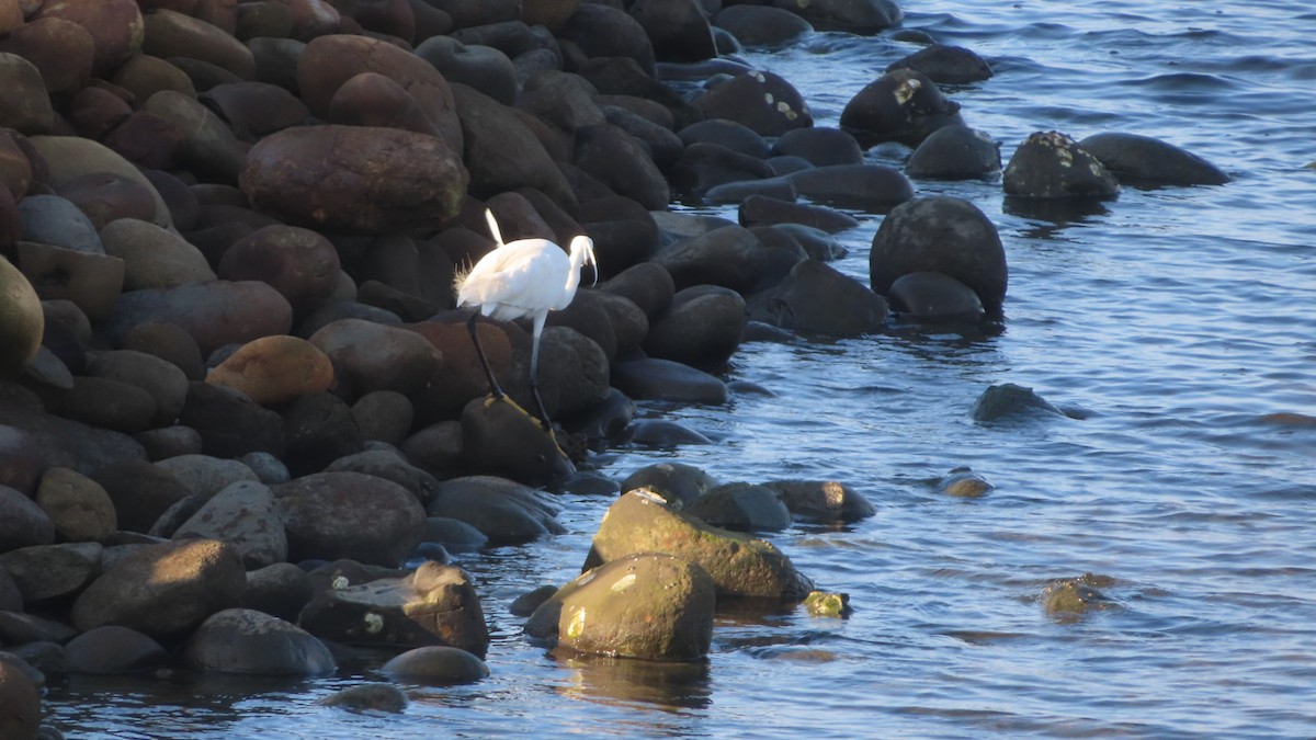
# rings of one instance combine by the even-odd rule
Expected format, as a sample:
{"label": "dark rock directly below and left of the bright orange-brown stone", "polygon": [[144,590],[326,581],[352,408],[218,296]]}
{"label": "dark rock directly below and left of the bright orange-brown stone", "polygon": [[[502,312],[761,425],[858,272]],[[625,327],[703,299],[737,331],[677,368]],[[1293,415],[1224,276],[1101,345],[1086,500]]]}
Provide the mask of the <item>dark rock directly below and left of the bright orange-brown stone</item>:
{"label": "dark rock directly below and left of the bright orange-brown stone", "polygon": [[242,392],[192,382],[179,423],[201,436],[201,452],[213,457],[242,457],[250,452],[283,454],[283,419]]}

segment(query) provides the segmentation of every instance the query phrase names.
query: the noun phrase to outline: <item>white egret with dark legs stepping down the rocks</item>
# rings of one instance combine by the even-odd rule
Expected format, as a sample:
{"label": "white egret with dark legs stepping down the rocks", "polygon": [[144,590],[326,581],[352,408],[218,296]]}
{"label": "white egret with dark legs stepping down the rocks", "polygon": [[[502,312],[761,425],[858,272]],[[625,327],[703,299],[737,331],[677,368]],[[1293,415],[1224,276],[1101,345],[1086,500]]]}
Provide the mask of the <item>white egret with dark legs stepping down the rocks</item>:
{"label": "white egret with dark legs stepping down the rocks", "polygon": [[529,316],[534,321],[530,344],[530,395],[538,406],[540,423],[551,437],[553,425],[549,423],[549,412],[544,408],[544,399],[540,398],[537,379],[540,334],[544,333],[544,321],[549,317],[549,311],[562,311],[571,305],[571,299],[575,298],[576,287],[580,284],[582,266],[592,265],[595,283],[599,282],[594,240],[583,234],[572,238],[570,257],[561,246],[546,238],[519,238],[503,244],[503,233],[497,228],[494,212],[486,209],[484,217],[488,219],[490,232],[497,246],[482,257],[470,273],[457,275],[457,305],[480,307],[479,313],[471,313],[466,328],[471,333],[480,365],[484,366],[484,374],[488,375],[495,400],[501,400],[507,394],[497,384],[488,357],[484,356],[484,348],[480,346],[475,319],[484,315],[496,321],[511,321]]}

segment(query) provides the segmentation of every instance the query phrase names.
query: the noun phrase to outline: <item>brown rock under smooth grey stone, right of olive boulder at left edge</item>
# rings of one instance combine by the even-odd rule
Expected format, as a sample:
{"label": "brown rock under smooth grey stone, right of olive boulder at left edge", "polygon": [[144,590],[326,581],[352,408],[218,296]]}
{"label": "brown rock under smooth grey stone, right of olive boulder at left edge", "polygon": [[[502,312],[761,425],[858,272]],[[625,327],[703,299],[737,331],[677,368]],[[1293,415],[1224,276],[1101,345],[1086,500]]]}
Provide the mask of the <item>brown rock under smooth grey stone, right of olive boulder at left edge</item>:
{"label": "brown rock under smooth grey stone, right of olive boulder at left edge", "polygon": [[42,300],[71,300],[97,321],[108,317],[124,284],[124,262],[92,251],[20,241],[18,267]]}

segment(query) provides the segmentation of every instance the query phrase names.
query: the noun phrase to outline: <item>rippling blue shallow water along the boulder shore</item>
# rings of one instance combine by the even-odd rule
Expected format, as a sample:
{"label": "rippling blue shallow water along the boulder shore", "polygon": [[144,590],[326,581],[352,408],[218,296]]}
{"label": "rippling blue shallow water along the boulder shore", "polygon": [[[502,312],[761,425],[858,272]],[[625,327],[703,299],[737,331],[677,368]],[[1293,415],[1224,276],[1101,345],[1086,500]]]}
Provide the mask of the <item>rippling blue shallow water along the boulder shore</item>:
{"label": "rippling blue shallow water along the boulder shore", "polygon": [[[1004,159],[1034,130],[1123,130],[1234,179],[1125,188],[1062,220],[1007,207],[999,183],[919,182],[1000,230],[999,327],[749,344],[728,379],[775,395],[645,408],[717,444],[599,456],[617,478],[679,460],[724,481],[861,490],[873,519],[772,536],[820,587],[850,594],[851,618],[725,616],[701,666],[555,661],[507,606],[578,573],[608,499],[562,496],[569,535],[457,558],[494,631],[484,682],[413,687],[404,714],[380,716],[313,704],[368,670],[293,685],[76,679],[51,690],[49,722],[118,739],[1316,735],[1316,171],[1304,169],[1316,12],[1299,0],[905,11],[907,28],[992,63],[996,76],[953,95]],[[749,57],[834,125],[915,49],[816,34]],[[859,216],[836,265],[867,282],[880,216]],[[974,400],[1003,382],[1074,417],[974,424]],[[938,495],[961,465],[995,490]],[[1084,573],[1111,578],[1101,591],[1117,606],[1048,616],[1046,585]]]}

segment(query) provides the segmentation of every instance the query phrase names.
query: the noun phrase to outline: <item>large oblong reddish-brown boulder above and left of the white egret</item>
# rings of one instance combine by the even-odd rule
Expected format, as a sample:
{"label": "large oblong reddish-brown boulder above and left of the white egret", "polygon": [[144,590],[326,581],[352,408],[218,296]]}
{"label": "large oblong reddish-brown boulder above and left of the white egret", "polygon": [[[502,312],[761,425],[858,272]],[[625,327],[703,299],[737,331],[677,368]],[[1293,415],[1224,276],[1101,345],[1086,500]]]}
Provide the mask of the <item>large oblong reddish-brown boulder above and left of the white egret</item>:
{"label": "large oblong reddish-brown boulder above and left of the white egret", "polygon": [[461,212],[468,175],[443,140],[399,129],[299,126],[271,134],[242,167],[258,211],[308,226],[395,233]]}

